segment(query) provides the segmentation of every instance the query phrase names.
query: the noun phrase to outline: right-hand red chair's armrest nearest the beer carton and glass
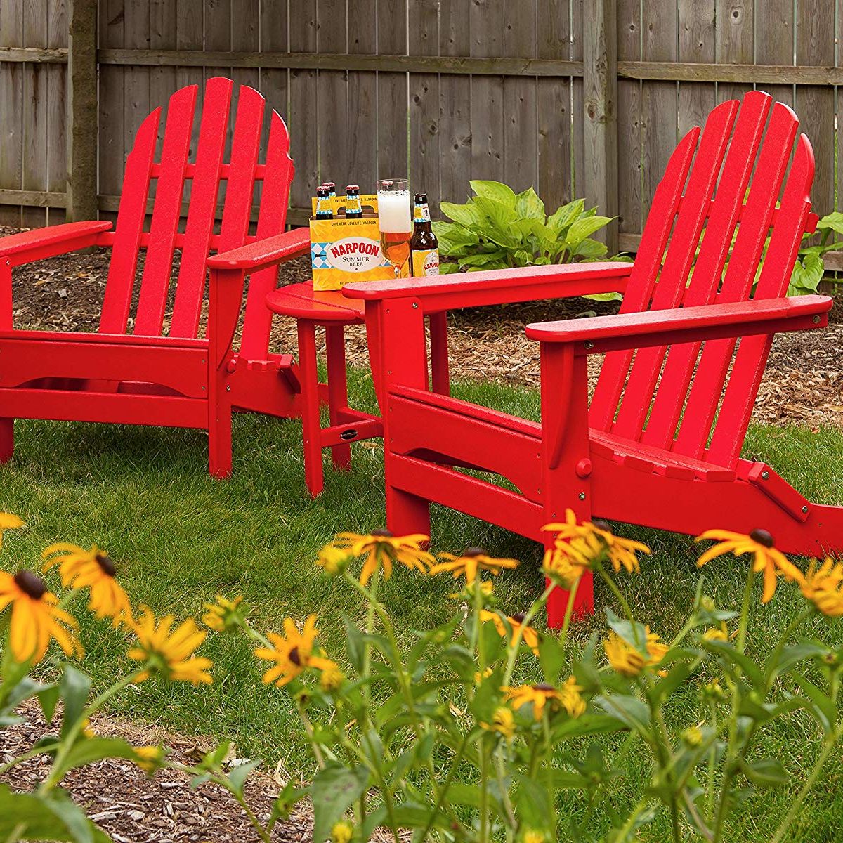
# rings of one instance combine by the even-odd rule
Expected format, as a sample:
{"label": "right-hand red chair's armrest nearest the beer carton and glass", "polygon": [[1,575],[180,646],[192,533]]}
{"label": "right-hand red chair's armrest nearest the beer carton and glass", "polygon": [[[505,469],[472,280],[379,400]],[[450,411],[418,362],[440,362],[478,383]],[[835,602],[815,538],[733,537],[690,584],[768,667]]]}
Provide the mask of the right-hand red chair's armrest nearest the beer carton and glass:
{"label": "right-hand red chair's armrest nearest the beer carton and glass", "polygon": [[464,272],[429,278],[398,278],[346,284],[342,294],[362,298],[366,302],[388,298],[414,298],[425,313],[440,310],[481,307],[561,298],[593,293],[622,293],[631,263],[602,261],[599,263],[556,264],[551,266],[519,266]]}

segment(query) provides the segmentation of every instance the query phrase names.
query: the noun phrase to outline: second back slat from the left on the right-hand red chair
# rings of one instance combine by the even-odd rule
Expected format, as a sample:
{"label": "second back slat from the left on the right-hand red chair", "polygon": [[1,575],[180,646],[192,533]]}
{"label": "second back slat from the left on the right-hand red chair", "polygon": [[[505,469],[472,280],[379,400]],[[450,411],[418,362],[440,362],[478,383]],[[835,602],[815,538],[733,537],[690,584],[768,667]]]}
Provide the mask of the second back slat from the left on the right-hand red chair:
{"label": "second back slat from the left on the right-hand red chair", "polygon": [[[737,111],[738,103],[731,100],[718,105],[706,121],[688,189],[679,206],[668,255],[652,297],[652,310],[676,308],[685,295],[685,284]],[[636,353],[612,432],[631,439],[639,438],[666,352],[667,346],[652,346]]]}

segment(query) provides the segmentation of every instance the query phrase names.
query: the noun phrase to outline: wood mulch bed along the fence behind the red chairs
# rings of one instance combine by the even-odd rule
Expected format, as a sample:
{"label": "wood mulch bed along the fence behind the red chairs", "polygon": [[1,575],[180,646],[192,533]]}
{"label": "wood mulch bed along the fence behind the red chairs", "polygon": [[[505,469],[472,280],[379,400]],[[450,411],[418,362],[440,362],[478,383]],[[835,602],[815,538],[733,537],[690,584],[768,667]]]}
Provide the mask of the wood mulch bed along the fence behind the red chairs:
{"label": "wood mulch bed along the fence behind the red chairs", "polygon": [[[0,235],[16,229],[0,227]],[[48,330],[96,330],[108,276],[108,253],[66,255],[20,267],[13,273],[15,325]],[[139,268],[139,272],[142,267]],[[282,284],[306,281],[309,258],[282,265]],[[843,298],[839,299],[843,303]],[[583,298],[506,304],[450,314],[452,373],[455,378],[492,379],[502,384],[537,386],[539,347],[524,335],[524,325],[546,319],[573,319],[615,313],[617,304]],[[754,421],[810,427],[831,423],[843,427],[843,308],[838,305],[824,330],[776,336],[765,379],[755,405]],[[347,331],[348,359],[368,365],[365,330]],[[295,352],[292,319],[276,319],[273,349]],[[599,357],[589,359],[594,382]]]}

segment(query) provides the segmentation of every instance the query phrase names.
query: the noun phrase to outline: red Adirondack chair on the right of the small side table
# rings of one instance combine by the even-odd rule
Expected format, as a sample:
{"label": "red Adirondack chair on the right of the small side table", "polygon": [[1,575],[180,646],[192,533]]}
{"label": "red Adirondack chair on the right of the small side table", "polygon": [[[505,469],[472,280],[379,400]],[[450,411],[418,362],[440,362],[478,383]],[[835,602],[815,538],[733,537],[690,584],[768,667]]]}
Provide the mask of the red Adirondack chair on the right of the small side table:
{"label": "red Adirondack chair on the right of the small side table", "polygon": [[[831,300],[782,298],[803,232],[816,225],[808,138],[799,137],[786,179],[796,115],[762,92],[738,105],[719,105],[679,143],[632,266],[345,288],[365,300],[393,532],[428,533],[437,502],[545,540],[542,525],[570,507],[580,519],[687,534],[765,528],[791,553],[843,550],[843,507],[808,502],[769,465],[740,456],[773,335],[825,325]],[[626,287],[620,314],[527,328],[541,343],[540,424],[428,391],[425,314],[613,283]],[[587,358],[603,352],[589,407]],[[463,469],[491,472],[518,491]],[[551,625],[566,599],[556,589]],[[590,581],[577,601],[578,613],[593,610]]]}

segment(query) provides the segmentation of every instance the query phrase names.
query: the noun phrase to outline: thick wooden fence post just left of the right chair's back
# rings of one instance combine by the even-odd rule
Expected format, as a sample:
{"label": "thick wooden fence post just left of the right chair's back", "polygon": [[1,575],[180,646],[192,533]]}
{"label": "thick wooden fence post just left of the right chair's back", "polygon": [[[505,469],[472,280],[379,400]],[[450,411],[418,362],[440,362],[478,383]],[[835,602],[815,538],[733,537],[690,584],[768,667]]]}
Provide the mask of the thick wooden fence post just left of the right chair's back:
{"label": "thick wooden fence post just left of the right chair's back", "polygon": [[[618,51],[616,0],[583,3],[584,183],[598,212],[618,212]],[[599,234],[597,235],[600,236]],[[605,229],[609,254],[618,250],[618,223]]]}

